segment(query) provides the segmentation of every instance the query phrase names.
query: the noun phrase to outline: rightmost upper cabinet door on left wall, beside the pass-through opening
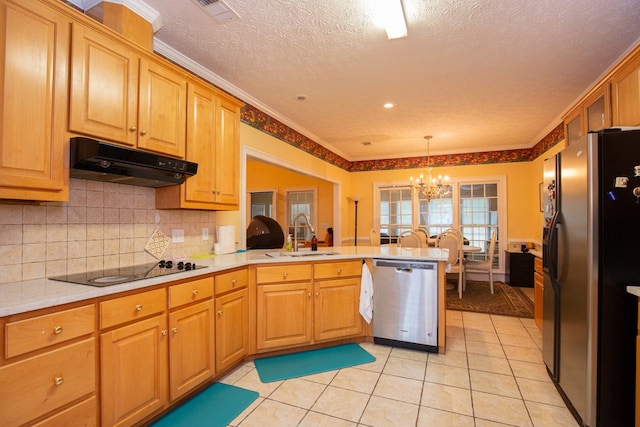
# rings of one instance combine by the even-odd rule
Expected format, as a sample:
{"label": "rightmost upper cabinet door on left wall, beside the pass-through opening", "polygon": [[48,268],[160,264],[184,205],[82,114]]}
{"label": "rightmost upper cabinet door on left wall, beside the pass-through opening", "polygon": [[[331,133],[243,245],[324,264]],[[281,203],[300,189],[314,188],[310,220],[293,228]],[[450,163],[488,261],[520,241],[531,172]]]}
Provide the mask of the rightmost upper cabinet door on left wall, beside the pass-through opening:
{"label": "rightmost upper cabinet door on left wall, beside the pass-through opening", "polygon": [[216,203],[237,208],[239,202],[240,110],[222,98],[218,110],[215,152]]}

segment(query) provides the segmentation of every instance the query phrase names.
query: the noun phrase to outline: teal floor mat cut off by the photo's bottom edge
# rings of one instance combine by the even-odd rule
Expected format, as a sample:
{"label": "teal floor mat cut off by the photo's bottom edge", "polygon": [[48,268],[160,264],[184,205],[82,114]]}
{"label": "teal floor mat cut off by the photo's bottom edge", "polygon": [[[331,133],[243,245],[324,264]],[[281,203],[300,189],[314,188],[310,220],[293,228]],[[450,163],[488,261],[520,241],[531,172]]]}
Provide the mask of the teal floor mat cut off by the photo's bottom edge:
{"label": "teal floor mat cut off by the photo's bottom edge", "polygon": [[151,425],[154,427],[226,427],[258,396],[259,393],[256,391],[215,383]]}

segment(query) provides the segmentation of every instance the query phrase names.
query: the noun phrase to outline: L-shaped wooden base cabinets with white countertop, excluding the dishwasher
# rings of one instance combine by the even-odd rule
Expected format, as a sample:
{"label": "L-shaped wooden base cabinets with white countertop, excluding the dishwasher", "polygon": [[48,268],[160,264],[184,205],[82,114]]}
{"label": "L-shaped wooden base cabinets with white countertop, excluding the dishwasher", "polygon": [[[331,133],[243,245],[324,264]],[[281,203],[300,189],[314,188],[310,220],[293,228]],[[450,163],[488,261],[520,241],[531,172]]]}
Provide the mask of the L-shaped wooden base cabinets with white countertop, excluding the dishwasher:
{"label": "L-shaped wooden base cabinets with white countertop, excluding the dishwasher", "polygon": [[[358,309],[362,261],[371,268],[374,258],[438,262],[444,352],[446,251],[267,252],[191,259],[204,268],[107,287],[48,279],[3,285],[0,375],[9,380],[0,386],[0,419],[54,425],[100,414],[101,425],[134,425],[246,358],[370,340]],[[147,385],[140,391],[132,381]]]}

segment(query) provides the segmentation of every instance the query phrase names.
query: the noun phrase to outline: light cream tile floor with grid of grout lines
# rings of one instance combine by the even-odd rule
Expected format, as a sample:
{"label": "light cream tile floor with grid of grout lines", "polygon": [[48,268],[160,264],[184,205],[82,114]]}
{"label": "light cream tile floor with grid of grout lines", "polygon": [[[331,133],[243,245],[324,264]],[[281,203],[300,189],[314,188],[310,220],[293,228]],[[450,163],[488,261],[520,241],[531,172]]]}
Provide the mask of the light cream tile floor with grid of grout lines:
{"label": "light cream tile floor with grid of grout lines", "polygon": [[264,384],[253,362],[222,382],[260,397],[232,426],[577,426],[549,379],[533,319],[447,311],[447,352],[361,343],[376,361]]}

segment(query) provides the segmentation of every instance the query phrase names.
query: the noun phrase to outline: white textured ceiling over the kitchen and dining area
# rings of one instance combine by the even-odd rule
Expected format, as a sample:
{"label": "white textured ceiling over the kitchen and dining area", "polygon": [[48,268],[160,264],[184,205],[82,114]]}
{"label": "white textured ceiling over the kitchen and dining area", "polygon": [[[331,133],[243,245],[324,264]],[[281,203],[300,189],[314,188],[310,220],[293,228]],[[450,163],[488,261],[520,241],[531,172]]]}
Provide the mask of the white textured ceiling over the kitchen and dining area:
{"label": "white textured ceiling over the kitchen and dining area", "polygon": [[144,1],[156,40],[352,161],[424,155],[424,135],[431,154],[530,148],[640,40],[640,0],[403,0],[397,40],[371,0],[225,0],[225,24]]}

